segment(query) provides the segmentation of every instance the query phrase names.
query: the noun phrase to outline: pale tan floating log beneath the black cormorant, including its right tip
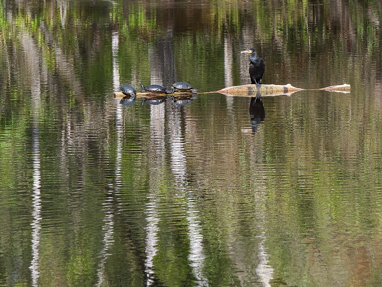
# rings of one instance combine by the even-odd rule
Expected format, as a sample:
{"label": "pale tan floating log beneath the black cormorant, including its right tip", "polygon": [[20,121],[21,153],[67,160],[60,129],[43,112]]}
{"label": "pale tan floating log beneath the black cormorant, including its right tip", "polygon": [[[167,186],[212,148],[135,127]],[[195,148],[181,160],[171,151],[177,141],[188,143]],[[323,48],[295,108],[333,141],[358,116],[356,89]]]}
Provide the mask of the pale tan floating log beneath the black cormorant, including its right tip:
{"label": "pale tan floating log beneath the black cormorant, including its right tip", "polygon": [[[232,86],[224,88],[222,90],[216,91],[216,93],[221,93],[224,95],[230,96],[256,96],[257,93],[260,93],[261,96],[280,96],[286,95],[290,96],[291,94],[297,91],[303,91],[306,89],[296,88],[291,84],[287,85],[241,85],[241,86]],[[343,84],[338,86],[330,86],[322,89],[309,89],[309,90],[325,90],[333,91],[340,93],[350,93],[350,85]]]}

